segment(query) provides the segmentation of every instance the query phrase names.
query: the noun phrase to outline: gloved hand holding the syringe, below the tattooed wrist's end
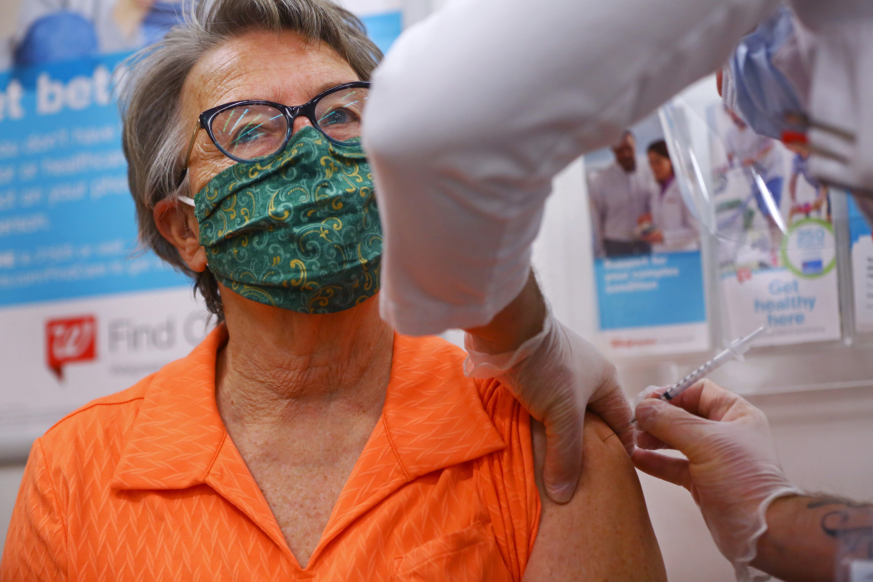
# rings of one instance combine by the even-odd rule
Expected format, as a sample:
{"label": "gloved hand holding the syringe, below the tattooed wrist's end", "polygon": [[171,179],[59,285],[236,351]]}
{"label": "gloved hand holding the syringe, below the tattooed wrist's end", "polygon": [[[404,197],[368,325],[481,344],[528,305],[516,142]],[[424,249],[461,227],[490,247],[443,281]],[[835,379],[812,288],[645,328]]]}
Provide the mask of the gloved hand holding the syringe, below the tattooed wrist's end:
{"label": "gloved hand holding the syringe, below the tattooed wrist's end", "polygon": [[[738,580],[768,579],[749,567],[766,531],[766,510],[778,497],[803,492],[782,472],[764,413],[702,380],[670,402],[641,401],[636,422],[645,431],[636,435],[636,468],[691,491]],[[651,448],[677,448],[688,459],[644,450]]]}

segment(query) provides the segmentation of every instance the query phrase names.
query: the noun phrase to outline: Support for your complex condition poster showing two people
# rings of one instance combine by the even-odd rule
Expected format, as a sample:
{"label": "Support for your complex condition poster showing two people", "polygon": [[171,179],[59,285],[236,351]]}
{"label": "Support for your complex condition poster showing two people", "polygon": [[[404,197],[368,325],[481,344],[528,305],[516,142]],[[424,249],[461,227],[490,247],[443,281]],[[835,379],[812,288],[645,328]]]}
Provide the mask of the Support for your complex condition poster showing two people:
{"label": "Support for your complex condition poster showing two people", "polygon": [[709,347],[698,221],[656,116],[585,157],[600,330],[610,356]]}

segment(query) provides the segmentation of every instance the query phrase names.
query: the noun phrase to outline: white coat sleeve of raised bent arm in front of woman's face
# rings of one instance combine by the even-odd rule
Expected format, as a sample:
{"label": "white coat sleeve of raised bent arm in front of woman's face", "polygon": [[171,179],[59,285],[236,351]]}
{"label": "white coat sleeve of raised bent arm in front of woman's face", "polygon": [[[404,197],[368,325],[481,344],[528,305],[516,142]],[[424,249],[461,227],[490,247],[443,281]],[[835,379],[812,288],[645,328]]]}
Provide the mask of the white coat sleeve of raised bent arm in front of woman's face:
{"label": "white coat sleeve of raised bent arm in front of woman's face", "polygon": [[375,72],[364,147],[382,317],[485,325],[528,274],[552,178],[715,71],[775,0],[450,0]]}

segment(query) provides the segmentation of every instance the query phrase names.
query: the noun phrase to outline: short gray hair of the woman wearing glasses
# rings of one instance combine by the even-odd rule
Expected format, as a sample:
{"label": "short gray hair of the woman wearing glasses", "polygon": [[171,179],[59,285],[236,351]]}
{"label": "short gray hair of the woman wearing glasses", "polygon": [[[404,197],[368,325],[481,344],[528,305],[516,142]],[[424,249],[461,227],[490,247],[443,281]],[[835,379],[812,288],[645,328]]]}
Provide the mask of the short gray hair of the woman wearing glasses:
{"label": "short gray hair of the woman wearing glasses", "polygon": [[127,181],[136,203],[140,241],[168,264],[194,279],[210,312],[223,318],[216,278],[191,270],[155,225],[152,211],[164,198],[189,195],[182,173],[191,120],[182,120],[182,85],[210,49],[250,31],[295,31],[320,40],[344,58],[361,80],[369,80],[382,51],[361,20],[331,0],[200,0],[189,5],[185,24],[128,60],[121,90],[122,142]]}

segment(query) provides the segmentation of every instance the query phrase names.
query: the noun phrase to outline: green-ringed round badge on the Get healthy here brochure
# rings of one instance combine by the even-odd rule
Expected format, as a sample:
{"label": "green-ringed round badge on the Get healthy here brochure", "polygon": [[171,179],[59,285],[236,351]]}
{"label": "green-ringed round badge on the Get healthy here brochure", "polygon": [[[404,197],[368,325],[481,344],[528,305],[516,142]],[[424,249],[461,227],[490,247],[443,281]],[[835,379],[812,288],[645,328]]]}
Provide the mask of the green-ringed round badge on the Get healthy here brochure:
{"label": "green-ringed round badge on the Get healthy here brochure", "polygon": [[823,277],[836,265],[834,227],[821,218],[792,224],[781,246],[782,264],[797,277]]}

